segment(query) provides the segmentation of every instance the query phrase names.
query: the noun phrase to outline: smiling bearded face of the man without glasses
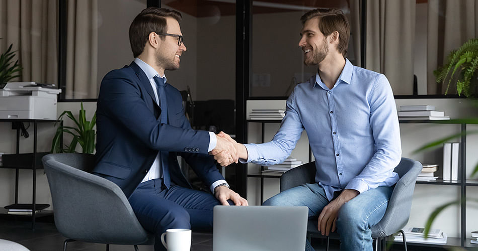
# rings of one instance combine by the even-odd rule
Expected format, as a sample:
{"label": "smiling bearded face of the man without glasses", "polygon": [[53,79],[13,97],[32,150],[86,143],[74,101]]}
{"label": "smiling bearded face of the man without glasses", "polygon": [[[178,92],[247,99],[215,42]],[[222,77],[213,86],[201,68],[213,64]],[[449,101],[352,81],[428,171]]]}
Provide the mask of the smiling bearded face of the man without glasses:
{"label": "smiling bearded face of the man without glasses", "polygon": [[318,28],[318,18],[307,20],[300,32],[299,47],[304,52],[304,64],[318,65],[329,54],[328,38]]}

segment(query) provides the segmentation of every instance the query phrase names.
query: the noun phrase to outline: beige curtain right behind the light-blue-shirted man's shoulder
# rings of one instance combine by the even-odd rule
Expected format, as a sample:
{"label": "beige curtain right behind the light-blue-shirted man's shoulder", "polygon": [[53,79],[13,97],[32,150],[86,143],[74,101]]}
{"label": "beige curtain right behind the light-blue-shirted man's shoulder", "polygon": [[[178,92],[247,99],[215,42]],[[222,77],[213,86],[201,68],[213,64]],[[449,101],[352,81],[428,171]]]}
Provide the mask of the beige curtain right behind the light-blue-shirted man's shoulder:
{"label": "beige curtain right behind the light-blue-shirted man's shoulder", "polygon": [[395,95],[413,94],[415,5],[367,1],[366,68],[385,74]]}

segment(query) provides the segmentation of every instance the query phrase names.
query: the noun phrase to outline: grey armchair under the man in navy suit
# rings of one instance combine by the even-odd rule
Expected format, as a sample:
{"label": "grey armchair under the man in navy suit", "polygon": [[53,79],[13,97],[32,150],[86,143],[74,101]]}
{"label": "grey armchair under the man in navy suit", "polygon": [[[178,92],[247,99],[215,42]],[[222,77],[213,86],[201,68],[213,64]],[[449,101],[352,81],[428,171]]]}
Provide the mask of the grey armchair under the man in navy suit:
{"label": "grey armchair under the man in navy suit", "polygon": [[42,158],[50,185],[58,231],[68,242],[151,245],[154,237],[138,222],[123,191],[113,182],[93,175],[91,154],[49,154]]}

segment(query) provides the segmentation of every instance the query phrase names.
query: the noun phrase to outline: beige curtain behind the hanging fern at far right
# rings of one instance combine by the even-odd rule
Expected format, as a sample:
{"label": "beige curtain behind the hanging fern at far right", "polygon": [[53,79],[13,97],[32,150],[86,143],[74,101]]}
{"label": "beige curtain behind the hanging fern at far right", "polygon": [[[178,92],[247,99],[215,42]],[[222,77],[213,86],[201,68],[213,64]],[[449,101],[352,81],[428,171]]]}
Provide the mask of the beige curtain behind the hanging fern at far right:
{"label": "beige curtain behind the hanging fern at far right", "polygon": [[[433,71],[442,66],[451,50],[478,37],[478,0],[428,0],[427,92],[445,93]],[[448,93],[456,93],[450,86]]]}

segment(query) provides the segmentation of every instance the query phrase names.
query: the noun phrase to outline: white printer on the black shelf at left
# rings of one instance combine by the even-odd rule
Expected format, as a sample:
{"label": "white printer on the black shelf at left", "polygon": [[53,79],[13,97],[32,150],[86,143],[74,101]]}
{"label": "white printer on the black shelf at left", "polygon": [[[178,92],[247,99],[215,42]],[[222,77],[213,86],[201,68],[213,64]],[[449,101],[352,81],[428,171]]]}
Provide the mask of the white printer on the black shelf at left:
{"label": "white printer on the black shelf at left", "polygon": [[56,119],[54,85],[36,82],[8,82],[0,89],[0,119]]}

